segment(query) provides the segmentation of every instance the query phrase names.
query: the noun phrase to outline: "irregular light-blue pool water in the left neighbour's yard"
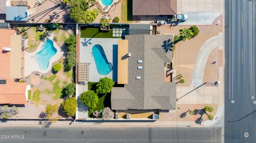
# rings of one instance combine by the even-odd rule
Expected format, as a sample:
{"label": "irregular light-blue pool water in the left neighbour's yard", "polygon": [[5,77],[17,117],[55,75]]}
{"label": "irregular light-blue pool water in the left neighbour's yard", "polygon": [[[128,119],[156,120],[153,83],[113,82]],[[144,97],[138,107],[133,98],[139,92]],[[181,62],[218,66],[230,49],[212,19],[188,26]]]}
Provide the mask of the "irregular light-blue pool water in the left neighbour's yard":
{"label": "irregular light-blue pool water in the left neighbour's yard", "polygon": [[49,62],[57,53],[57,49],[53,46],[53,41],[47,39],[43,48],[35,55],[36,62],[39,64],[41,70],[46,70],[49,66]]}

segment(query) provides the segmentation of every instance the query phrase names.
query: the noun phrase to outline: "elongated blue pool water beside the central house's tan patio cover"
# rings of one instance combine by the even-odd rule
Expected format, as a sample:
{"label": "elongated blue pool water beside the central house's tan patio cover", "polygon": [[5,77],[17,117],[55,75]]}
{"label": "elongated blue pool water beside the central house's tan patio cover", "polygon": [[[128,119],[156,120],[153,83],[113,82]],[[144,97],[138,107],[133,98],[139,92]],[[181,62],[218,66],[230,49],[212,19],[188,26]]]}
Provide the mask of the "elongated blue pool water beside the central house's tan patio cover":
{"label": "elongated blue pool water beside the central house's tan patio cover", "polygon": [[104,49],[97,44],[92,47],[93,58],[97,71],[101,75],[107,75],[112,71],[112,64],[108,62]]}

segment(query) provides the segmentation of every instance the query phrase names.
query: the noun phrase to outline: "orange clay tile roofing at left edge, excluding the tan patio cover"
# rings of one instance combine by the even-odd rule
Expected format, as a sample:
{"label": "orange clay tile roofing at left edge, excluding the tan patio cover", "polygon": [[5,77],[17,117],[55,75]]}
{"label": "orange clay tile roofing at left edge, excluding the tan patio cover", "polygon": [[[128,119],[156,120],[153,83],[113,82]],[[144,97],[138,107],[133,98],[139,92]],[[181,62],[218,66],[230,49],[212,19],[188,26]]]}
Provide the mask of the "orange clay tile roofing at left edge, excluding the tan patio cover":
{"label": "orange clay tile roofing at left edge, excluding the tan patio cover", "polygon": [[0,104],[26,104],[27,83],[11,79],[11,52],[3,51],[3,47],[11,46],[12,35],[14,30],[0,29],[0,79],[6,80],[6,84],[0,84]]}

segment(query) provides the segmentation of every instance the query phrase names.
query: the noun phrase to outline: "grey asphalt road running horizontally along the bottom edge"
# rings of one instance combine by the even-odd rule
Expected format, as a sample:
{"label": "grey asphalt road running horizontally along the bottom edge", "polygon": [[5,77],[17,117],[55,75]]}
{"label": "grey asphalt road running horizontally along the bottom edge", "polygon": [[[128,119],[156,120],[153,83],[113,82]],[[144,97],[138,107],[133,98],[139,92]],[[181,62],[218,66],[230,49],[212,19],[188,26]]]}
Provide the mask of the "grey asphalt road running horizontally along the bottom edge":
{"label": "grey asphalt road running horizontally along the bottom edge", "polygon": [[[0,142],[221,142],[221,127],[214,128],[128,128],[128,127],[8,127],[0,128],[1,135],[9,139]],[[24,139],[11,139],[17,135]],[[22,136],[23,135],[23,136]],[[0,136],[1,138],[2,136]]]}

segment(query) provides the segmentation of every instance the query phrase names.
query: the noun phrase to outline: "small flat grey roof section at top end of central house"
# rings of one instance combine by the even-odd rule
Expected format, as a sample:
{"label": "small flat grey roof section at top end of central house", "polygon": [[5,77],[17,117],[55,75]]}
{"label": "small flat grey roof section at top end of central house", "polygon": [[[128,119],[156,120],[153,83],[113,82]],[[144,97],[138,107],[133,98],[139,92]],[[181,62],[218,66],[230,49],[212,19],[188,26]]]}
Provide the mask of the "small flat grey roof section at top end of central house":
{"label": "small flat grey roof section at top end of central house", "polygon": [[150,24],[130,24],[129,26],[129,34],[137,35],[137,34],[150,34]]}

